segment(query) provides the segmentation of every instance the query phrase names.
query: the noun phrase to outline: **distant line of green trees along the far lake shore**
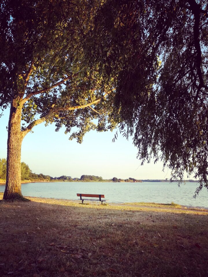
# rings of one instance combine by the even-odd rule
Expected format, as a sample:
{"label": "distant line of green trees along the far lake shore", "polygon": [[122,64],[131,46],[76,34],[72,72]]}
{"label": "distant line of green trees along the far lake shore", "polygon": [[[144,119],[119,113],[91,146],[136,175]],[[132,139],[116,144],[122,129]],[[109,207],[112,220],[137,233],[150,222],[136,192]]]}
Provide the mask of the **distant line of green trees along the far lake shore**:
{"label": "distant line of green trees along the far lake shore", "polygon": [[[0,179],[6,179],[6,159],[0,159]],[[60,177],[51,177],[50,175],[44,175],[42,173],[36,174],[32,173],[29,166],[25,164],[25,162],[21,162],[21,179],[22,181],[29,180],[31,182],[38,181],[46,181],[46,182],[55,182],[55,181],[63,181],[63,182],[141,182],[141,180],[137,180],[134,178],[129,179],[119,179],[113,177],[112,179],[103,179],[101,176],[95,175],[81,175],[80,178],[72,178],[71,176],[62,175]]]}

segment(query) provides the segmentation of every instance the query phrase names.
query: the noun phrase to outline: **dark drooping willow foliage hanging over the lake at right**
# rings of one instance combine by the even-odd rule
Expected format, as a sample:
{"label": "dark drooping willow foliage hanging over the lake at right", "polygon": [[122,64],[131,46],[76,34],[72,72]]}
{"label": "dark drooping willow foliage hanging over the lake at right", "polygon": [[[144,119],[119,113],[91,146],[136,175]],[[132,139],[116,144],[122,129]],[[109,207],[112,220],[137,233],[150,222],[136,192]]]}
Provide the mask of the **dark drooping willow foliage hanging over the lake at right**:
{"label": "dark drooping willow foliage hanging over the lake at right", "polygon": [[194,174],[196,194],[208,189],[207,10],[205,0],[107,0],[88,43],[105,82],[116,76],[113,114],[142,163]]}

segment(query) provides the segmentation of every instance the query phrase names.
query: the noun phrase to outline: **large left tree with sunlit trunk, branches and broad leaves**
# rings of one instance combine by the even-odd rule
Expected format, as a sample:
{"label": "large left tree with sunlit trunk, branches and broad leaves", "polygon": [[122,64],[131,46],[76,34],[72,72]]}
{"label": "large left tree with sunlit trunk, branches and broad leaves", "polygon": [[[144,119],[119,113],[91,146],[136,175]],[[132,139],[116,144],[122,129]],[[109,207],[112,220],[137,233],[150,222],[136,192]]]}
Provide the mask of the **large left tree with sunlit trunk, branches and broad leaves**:
{"label": "large left tree with sunlit trunk, branches and broad leaves", "polygon": [[86,62],[83,41],[99,1],[4,0],[0,10],[0,106],[10,105],[3,199],[22,199],[21,145],[34,126],[55,122],[80,143],[114,128],[112,82]]}

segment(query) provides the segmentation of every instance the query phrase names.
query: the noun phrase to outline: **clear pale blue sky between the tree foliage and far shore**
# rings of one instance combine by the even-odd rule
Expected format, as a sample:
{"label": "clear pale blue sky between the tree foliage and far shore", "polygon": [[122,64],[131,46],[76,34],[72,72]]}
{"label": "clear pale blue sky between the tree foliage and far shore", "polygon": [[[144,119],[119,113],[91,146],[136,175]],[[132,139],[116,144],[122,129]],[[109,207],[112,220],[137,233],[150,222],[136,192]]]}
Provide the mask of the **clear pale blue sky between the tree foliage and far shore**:
{"label": "clear pale blue sky between the tree foliage and far shore", "polygon": [[[6,158],[7,130],[9,111],[0,118],[0,158]],[[34,133],[25,136],[22,144],[21,160],[30,169],[39,174],[78,177],[82,174],[98,175],[104,179],[112,177],[126,179],[165,179],[170,171],[162,171],[162,164],[144,164],[136,158],[137,149],[132,141],[122,136],[113,143],[114,132],[97,133],[91,131],[84,137],[83,143],[69,141],[64,128],[55,132],[55,126],[34,127]]]}

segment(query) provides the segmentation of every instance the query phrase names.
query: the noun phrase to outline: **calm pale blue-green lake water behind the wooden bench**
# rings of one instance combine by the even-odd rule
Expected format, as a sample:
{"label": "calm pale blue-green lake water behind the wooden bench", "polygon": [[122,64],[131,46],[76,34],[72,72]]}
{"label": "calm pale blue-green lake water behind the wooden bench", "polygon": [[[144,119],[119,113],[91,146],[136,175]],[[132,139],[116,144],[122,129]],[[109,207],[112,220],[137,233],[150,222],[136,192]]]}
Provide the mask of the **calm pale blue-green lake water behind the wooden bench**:
{"label": "calm pale blue-green lake water behind the wooden bench", "polygon": [[[0,186],[0,192],[5,186]],[[77,200],[77,193],[105,194],[109,202],[155,202],[171,203],[172,201],[186,206],[207,207],[208,191],[204,188],[196,199],[193,199],[196,183],[170,184],[168,182],[144,183],[27,183],[22,184],[24,196]]]}

